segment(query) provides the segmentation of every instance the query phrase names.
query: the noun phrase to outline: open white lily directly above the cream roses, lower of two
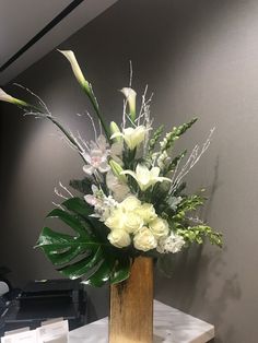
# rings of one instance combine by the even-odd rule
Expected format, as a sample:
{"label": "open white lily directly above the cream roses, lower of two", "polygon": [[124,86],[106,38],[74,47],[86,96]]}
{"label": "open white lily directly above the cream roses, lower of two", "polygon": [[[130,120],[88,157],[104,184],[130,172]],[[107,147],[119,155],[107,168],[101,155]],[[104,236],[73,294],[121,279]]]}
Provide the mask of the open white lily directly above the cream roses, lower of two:
{"label": "open white lily directly above the cream roses, lower of two", "polygon": [[162,181],[171,182],[172,181],[167,177],[159,176],[160,172],[161,169],[159,167],[153,167],[151,169],[148,169],[148,167],[144,166],[143,164],[138,164],[136,168],[136,173],[131,170],[124,170],[120,174],[121,175],[128,174],[132,176],[137,180],[140,189],[144,191],[149,187],[154,186],[156,182],[162,182]]}

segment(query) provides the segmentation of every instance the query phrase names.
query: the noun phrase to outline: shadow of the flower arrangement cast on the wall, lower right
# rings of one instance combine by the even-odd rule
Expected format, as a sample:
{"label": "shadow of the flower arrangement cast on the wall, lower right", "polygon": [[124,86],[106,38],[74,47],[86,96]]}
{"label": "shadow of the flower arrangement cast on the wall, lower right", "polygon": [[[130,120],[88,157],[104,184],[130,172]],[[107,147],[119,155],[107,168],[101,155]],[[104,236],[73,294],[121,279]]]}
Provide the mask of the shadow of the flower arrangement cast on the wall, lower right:
{"label": "shadow of the flower arrangement cast on the wall, lower right", "polygon": [[[207,218],[212,208],[219,182],[219,157],[214,167],[214,177],[209,189],[209,202],[200,217]],[[201,318],[215,326],[215,343],[237,342],[233,324],[225,324],[227,306],[239,300],[242,291],[237,273],[226,272],[226,241],[222,250],[216,247],[192,246],[186,251],[171,256],[166,268],[173,270],[171,277],[165,280],[157,270],[155,289],[156,298],[180,310]],[[221,338],[223,332],[223,339]]]}

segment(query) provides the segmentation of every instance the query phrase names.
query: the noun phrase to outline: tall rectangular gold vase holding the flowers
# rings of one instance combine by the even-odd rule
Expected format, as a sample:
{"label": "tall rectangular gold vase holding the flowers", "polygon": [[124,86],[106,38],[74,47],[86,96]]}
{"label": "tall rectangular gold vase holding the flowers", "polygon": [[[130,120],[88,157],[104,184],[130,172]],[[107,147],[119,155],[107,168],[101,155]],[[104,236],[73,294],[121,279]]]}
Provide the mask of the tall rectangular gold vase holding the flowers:
{"label": "tall rectangular gold vase holding the flowers", "polygon": [[130,277],[110,286],[109,343],[153,342],[153,260],[138,257]]}

